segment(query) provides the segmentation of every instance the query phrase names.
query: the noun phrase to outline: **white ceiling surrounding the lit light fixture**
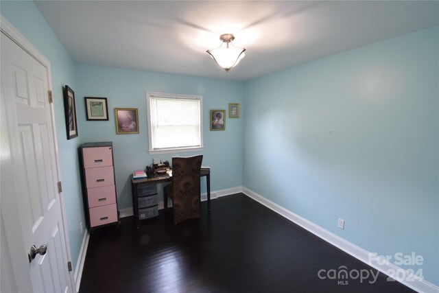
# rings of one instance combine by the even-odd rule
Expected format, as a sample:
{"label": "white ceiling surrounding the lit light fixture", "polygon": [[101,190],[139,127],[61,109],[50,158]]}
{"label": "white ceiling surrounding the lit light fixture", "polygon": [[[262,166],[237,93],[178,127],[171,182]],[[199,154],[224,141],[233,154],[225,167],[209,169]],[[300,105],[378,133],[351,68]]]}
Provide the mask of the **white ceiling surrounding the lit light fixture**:
{"label": "white ceiling surrounding the lit light fixture", "polygon": [[[249,80],[439,25],[439,1],[36,1],[75,62]],[[206,54],[235,34],[226,73]]]}

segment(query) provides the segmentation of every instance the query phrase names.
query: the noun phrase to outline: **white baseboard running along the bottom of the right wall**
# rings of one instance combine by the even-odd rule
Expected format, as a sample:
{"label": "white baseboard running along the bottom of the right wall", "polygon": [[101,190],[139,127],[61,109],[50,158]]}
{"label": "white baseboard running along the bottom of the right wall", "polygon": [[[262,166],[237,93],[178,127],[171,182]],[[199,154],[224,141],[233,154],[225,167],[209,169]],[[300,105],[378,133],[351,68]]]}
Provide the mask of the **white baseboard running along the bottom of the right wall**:
{"label": "white baseboard running along the bottom of the right wall", "polygon": [[332,244],[333,246],[340,248],[345,253],[352,255],[356,259],[359,259],[360,261],[363,261],[369,266],[372,266],[372,268],[375,268],[380,272],[382,272],[383,274],[386,274],[387,276],[392,277],[396,281],[399,281],[400,283],[407,286],[408,288],[411,288],[412,290],[415,290],[417,292],[428,292],[428,293],[439,292],[438,286],[429,283],[424,279],[420,279],[419,277],[414,276],[414,274],[411,274],[410,272],[407,272],[406,270],[399,268],[393,263],[389,263],[388,261],[385,261],[385,259],[381,259],[373,255],[367,250],[364,250],[363,248],[356,246],[351,242],[346,241],[342,237],[339,237],[325,230],[324,228],[314,224],[313,222],[310,222],[309,220],[300,217],[300,215],[296,215],[296,213],[293,213],[292,211],[289,211],[284,207],[281,207],[280,205],[272,202],[271,200],[268,200],[267,198],[264,198],[263,196],[257,194],[256,192],[251,191],[246,187],[242,187],[241,192],[246,196],[248,196],[249,198],[256,200],[257,202],[263,204],[265,207],[268,207],[272,211],[278,213],[279,215],[282,215],[284,218],[287,218],[287,220],[290,220],[298,224],[302,228],[305,228],[307,231],[320,237],[321,239],[328,242],[329,244]]}

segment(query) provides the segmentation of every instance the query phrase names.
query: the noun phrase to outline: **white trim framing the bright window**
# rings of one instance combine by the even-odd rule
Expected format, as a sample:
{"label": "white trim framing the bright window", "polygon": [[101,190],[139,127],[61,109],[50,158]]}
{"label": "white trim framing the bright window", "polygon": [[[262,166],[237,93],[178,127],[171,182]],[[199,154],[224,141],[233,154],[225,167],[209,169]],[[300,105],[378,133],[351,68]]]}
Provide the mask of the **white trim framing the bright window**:
{"label": "white trim framing the bright window", "polygon": [[[199,99],[200,100],[200,147],[196,148],[170,148],[162,150],[152,150],[152,133],[151,133],[151,114],[150,114],[150,98],[151,97],[173,97],[176,99]],[[203,96],[202,95],[182,95],[177,93],[146,93],[146,113],[148,119],[148,153],[149,154],[175,154],[178,152],[198,152],[204,150],[203,136]]]}

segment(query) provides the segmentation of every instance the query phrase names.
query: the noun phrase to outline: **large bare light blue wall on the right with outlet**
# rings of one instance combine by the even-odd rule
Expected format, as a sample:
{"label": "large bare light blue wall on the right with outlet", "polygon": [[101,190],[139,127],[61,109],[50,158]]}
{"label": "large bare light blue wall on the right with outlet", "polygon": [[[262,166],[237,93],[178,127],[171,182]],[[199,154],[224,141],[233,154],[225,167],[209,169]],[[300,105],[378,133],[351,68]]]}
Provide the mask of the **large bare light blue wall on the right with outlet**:
{"label": "large bare light blue wall on the right with outlet", "polygon": [[434,27],[246,82],[244,187],[439,285],[438,55]]}

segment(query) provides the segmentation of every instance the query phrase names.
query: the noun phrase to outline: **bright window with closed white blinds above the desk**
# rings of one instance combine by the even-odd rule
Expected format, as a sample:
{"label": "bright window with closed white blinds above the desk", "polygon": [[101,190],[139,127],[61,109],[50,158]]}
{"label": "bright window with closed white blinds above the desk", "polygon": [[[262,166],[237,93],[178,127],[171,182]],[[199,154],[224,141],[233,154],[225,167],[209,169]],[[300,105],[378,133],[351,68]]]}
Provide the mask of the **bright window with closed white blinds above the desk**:
{"label": "bright window with closed white blinds above the desk", "polygon": [[202,96],[147,93],[150,154],[202,150]]}

